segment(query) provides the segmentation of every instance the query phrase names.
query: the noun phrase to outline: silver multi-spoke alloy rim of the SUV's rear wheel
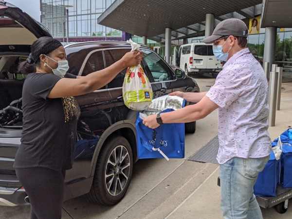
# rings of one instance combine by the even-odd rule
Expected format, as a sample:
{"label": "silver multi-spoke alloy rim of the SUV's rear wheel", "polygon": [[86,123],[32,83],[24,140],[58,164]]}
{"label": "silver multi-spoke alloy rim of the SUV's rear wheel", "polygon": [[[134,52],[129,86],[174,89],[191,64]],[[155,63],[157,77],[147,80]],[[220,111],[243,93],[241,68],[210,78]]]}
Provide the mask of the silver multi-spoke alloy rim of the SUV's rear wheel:
{"label": "silver multi-spoke alloy rim of the SUV's rear wheel", "polygon": [[125,146],[116,146],[106,165],[105,184],[110,195],[117,196],[125,188],[130,174],[131,160]]}

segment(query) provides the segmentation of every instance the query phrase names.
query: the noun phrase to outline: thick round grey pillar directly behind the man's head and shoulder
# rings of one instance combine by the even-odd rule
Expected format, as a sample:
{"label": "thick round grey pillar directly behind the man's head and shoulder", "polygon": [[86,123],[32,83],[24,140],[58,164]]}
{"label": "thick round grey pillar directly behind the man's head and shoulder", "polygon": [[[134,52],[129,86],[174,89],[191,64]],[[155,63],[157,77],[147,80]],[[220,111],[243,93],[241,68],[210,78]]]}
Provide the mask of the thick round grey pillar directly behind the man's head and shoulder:
{"label": "thick round grey pillar directly behind the man's head and shoulder", "polygon": [[276,36],[277,36],[276,27],[266,27],[263,63],[265,62],[270,63],[269,72],[271,72],[272,64],[274,63],[275,60]]}

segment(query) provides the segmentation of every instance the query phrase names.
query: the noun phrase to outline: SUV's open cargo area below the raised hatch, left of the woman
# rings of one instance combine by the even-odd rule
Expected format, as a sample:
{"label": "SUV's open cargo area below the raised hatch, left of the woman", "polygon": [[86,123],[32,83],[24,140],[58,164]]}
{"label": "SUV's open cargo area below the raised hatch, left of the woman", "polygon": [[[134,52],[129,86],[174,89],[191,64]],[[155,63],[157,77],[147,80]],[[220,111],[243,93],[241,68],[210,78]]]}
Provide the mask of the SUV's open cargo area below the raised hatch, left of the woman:
{"label": "SUV's open cargo area below the raised hatch, left of the woman", "polygon": [[18,64],[24,58],[0,55],[0,187],[7,187],[7,182],[18,182],[12,166],[21,137],[20,98],[25,75],[18,74]]}

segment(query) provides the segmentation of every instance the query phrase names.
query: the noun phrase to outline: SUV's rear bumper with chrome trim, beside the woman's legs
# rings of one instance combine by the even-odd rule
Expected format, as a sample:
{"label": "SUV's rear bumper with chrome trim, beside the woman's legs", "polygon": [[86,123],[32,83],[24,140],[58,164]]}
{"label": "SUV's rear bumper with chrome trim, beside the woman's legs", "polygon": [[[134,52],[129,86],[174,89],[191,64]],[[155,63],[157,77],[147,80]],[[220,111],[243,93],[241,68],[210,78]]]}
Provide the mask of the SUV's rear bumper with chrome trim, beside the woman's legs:
{"label": "SUV's rear bumper with chrome trim, beside the woman's legs", "polygon": [[2,206],[16,206],[16,205],[28,205],[24,201],[27,196],[24,189],[11,189],[0,187],[0,205]]}

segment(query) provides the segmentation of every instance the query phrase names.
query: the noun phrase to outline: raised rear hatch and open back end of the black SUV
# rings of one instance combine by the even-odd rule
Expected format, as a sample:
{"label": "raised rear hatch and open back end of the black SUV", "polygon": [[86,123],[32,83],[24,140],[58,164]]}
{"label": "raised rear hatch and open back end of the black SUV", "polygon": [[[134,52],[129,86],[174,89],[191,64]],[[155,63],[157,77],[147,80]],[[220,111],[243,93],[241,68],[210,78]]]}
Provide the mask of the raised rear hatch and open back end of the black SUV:
{"label": "raised rear hatch and open back end of the black SUV", "polygon": [[[12,67],[18,57],[29,55],[32,43],[39,37],[52,36],[46,27],[18,7],[0,1],[0,111],[21,97],[23,78],[13,76],[17,67]],[[11,117],[13,113],[8,110],[0,115],[0,121],[7,121],[0,123],[0,195],[5,189],[20,187],[13,163],[20,144],[21,124],[10,125]]]}

